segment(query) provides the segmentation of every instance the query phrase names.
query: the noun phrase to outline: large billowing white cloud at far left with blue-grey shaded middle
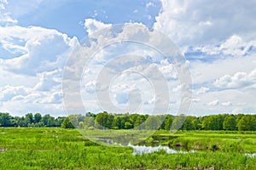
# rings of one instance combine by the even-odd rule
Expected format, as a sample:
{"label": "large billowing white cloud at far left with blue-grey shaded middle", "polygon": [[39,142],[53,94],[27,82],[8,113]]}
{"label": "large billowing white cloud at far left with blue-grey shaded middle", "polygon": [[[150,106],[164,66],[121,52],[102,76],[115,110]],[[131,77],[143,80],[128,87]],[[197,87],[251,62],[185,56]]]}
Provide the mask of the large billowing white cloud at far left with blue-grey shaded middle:
{"label": "large billowing white cloud at far left with blue-grey shaded middle", "polygon": [[11,44],[15,39],[26,41],[24,47],[9,46],[12,50],[23,50],[25,54],[12,59],[0,59],[4,70],[18,74],[36,75],[43,71],[52,71],[63,67],[67,53],[78,44],[76,37],[41,27],[0,27],[0,42]]}

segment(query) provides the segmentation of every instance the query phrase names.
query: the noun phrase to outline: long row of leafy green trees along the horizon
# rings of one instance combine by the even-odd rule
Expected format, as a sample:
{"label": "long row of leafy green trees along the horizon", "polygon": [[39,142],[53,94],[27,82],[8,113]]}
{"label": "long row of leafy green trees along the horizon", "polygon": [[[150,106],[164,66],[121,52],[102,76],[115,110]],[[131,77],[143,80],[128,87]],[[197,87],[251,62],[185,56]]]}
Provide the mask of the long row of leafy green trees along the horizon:
{"label": "long row of leafy green trees along the horizon", "polygon": [[148,129],[170,130],[229,130],[255,131],[256,115],[219,114],[211,116],[148,116],[141,114],[112,114],[103,111],[98,114],[70,116],[42,116],[40,113],[28,113],[25,116],[10,116],[0,113],[0,127],[63,127],[63,128],[108,128],[108,129]]}

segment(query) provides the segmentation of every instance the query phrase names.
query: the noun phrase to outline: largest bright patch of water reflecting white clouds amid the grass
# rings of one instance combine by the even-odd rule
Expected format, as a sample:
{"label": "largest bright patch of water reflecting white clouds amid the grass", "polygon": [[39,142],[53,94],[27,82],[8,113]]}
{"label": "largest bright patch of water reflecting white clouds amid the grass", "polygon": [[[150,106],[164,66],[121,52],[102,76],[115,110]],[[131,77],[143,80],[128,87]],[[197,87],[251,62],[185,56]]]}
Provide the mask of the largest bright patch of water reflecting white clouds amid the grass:
{"label": "largest bright patch of water reflecting white clouds amid the grass", "polygon": [[148,154],[148,153],[152,153],[152,152],[156,152],[159,150],[165,150],[166,153],[168,154],[176,154],[176,153],[194,153],[195,150],[189,150],[189,151],[182,151],[182,150],[173,150],[170,149],[167,146],[140,146],[140,145],[132,145],[132,144],[128,144],[128,146],[131,146],[133,148],[133,155],[141,155],[141,154]]}

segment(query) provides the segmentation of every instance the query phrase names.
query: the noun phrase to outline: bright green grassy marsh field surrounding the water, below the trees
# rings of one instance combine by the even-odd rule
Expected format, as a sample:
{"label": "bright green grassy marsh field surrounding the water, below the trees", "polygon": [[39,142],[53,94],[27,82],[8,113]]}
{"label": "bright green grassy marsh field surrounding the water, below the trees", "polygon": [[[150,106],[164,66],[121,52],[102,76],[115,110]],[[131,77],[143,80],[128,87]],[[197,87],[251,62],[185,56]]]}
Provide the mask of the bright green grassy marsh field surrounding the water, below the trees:
{"label": "bright green grassy marsh field surrounding the water, below the trees", "polygon": [[[120,130],[129,133],[128,130]],[[92,133],[92,132],[89,132]],[[159,150],[133,155],[131,147],[90,142],[75,129],[0,128],[1,169],[256,169],[256,132],[158,131],[144,144],[161,144],[194,153]]]}

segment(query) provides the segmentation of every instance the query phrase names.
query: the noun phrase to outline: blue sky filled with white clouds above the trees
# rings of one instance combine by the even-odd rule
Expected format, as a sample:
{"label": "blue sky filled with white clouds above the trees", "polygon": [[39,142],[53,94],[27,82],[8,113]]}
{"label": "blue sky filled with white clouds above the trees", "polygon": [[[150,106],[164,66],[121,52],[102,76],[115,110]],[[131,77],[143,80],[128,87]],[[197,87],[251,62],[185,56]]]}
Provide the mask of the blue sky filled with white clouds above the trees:
{"label": "blue sky filled with white clouds above the trees", "polygon": [[[124,37],[142,40],[153,29],[172,40],[175,47],[171,42],[166,47],[178,49],[189,68],[187,115],[255,114],[255,15],[254,0],[0,0],[0,112],[82,113],[76,99],[65,102],[69,94],[63,91],[63,75],[74,62],[81,68],[79,95],[73,97],[80,96],[84,111],[150,113],[167,105],[175,115],[184,89],[175,65],[146,42],[119,43]],[[109,42],[96,32],[116,25],[122,29],[111,40],[118,43],[95,51]],[[158,38],[153,35],[151,45]],[[86,40],[82,52],[96,52],[88,65],[73,56]],[[155,87],[161,75],[167,86]],[[112,77],[102,86],[108,95],[98,85],[102,77]]]}

